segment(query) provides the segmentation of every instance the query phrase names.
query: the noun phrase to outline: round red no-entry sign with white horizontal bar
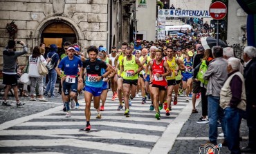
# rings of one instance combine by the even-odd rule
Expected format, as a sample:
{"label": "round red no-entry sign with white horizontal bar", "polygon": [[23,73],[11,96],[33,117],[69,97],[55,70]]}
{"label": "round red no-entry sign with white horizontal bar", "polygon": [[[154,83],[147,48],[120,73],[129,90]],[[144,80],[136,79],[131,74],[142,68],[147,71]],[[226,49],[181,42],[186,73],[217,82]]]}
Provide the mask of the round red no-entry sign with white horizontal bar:
{"label": "round red no-entry sign with white horizontal bar", "polygon": [[216,20],[223,19],[227,15],[227,6],[221,1],[216,1],[210,5],[210,17]]}

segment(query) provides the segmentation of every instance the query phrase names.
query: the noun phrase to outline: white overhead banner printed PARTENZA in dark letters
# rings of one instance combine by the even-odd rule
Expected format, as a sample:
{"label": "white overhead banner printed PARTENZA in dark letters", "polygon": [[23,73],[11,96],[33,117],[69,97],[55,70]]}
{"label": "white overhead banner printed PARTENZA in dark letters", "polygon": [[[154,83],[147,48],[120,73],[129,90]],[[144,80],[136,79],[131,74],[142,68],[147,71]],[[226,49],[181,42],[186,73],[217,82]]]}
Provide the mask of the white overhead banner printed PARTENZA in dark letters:
{"label": "white overhead banner printed PARTENZA in dark letters", "polygon": [[165,17],[166,20],[171,20],[172,17],[197,17],[210,18],[208,10],[173,10],[160,9],[158,10],[158,17]]}

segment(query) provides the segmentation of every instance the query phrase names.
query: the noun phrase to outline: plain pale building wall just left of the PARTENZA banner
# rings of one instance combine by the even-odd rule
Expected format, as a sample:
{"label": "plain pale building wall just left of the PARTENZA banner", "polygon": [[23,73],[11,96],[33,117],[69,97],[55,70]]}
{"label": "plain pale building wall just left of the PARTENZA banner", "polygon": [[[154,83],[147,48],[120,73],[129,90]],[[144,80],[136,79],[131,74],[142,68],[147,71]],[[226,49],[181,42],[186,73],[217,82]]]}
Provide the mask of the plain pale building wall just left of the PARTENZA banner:
{"label": "plain pale building wall just left of the PARTENZA banner", "polygon": [[[137,1],[138,2],[138,1]],[[147,8],[138,8],[136,3],[136,19],[138,34],[143,34],[143,39],[156,40],[156,1],[147,1]]]}

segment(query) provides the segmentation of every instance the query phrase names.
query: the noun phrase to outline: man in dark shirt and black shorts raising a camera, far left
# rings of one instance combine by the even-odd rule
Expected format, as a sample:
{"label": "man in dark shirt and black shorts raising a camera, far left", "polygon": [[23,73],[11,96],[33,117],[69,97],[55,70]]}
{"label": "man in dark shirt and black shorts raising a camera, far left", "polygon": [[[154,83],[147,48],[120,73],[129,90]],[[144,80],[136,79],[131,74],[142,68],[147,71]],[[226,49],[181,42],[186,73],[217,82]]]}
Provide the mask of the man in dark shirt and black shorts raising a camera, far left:
{"label": "man in dark shirt and black shorts raising a camera, far left", "polygon": [[6,100],[8,99],[8,92],[13,88],[16,99],[16,106],[22,106],[24,103],[19,101],[18,82],[17,82],[17,58],[28,52],[28,48],[23,41],[19,44],[23,46],[23,51],[15,51],[16,42],[14,40],[8,41],[8,47],[3,50],[3,84],[6,84],[6,89],[3,95],[2,106],[11,106]]}

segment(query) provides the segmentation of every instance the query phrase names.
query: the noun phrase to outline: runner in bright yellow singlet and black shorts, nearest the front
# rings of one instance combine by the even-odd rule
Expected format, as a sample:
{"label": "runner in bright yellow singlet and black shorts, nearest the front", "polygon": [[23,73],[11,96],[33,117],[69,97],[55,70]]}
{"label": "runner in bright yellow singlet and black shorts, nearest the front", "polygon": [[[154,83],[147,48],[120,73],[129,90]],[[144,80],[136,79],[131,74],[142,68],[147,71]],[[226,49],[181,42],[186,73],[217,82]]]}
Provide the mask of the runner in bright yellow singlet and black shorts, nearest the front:
{"label": "runner in bright yellow singlet and black shorts, nearest the front", "polygon": [[[129,106],[131,106],[131,99],[136,95],[136,87],[138,84],[138,73],[143,70],[143,65],[140,60],[131,54],[131,48],[127,47],[125,55],[120,63],[120,74],[123,73],[123,93],[125,95],[125,114],[129,117]],[[118,75],[118,77],[121,77]]]}

